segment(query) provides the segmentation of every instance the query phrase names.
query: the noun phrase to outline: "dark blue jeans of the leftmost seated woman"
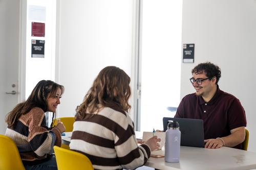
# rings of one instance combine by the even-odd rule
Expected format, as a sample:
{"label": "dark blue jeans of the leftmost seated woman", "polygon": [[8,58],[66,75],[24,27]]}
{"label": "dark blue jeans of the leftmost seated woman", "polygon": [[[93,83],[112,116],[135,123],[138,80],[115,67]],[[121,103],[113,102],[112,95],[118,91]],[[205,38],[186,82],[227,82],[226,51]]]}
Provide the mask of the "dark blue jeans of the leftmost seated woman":
{"label": "dark blue jeans of the leftmost seated woman", "polygon": [[46,161],[36,165],[24,165],[26,170],[57,170],[56,158],[51,155],[51,158]]}

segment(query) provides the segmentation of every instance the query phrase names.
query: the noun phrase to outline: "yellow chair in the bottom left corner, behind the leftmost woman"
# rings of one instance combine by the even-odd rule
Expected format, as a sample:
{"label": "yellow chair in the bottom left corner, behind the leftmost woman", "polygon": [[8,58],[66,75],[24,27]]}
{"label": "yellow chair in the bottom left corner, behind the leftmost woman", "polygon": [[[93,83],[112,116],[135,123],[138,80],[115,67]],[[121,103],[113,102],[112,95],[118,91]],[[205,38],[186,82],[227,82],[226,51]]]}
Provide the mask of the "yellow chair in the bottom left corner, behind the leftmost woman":
{"label": "yellow chair in the bottom left corner, behind the leftmost woman", "polygon": [[5,170],[26,170],[14,141],[0,135],[0,169]]}

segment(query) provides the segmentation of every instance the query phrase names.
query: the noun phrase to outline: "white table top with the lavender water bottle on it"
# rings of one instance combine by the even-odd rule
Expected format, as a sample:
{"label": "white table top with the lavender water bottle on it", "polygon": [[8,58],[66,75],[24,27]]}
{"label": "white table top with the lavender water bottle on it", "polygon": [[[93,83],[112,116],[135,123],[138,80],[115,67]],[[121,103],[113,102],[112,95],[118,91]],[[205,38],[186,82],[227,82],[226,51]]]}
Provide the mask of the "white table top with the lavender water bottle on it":
{"label": "white table top with the lavender water bottle on it", "polygon": [[[69,143],[71,134],[72,132],[66,132],[66,136],[62,136],[62,142]],[[164,150],[160,152],[164,153]],[[179,163],[167,163],[164,161],[164,158],[151,157],[145,165],[163,170],[244,170],[256,168],[256,153],[227,147],[205,149],[181,146]]]}

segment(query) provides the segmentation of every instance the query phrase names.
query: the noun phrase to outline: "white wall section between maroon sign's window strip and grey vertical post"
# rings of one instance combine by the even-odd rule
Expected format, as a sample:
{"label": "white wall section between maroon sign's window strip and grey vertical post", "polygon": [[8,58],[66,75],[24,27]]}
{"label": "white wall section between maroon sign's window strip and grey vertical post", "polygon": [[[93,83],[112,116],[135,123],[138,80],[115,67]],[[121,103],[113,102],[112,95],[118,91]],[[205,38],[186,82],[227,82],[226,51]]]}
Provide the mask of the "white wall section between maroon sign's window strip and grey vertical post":
{"label": "white wall section between maroon sign's window strip and grey vertical post", "polygon": [[125,0],[57,1],[56,81],[65,86],[58,116],[73,116],[99,71],[132,75],[133,6]]}

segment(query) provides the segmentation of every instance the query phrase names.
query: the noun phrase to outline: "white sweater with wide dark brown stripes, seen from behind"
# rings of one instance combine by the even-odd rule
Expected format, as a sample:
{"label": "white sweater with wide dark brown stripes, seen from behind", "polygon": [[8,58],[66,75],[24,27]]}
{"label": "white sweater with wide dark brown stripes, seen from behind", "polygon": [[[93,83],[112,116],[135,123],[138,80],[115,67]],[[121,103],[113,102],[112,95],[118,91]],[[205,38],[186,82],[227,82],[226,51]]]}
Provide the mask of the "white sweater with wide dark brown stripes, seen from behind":
{"label": "white sweater with wide dark brown stripes, seen from behind", "polygon": [[108,107],[75,121],[70,149],[88,156],[94,169],[135,169],[151,154],[146,144],[138,146],[130,116]]}

